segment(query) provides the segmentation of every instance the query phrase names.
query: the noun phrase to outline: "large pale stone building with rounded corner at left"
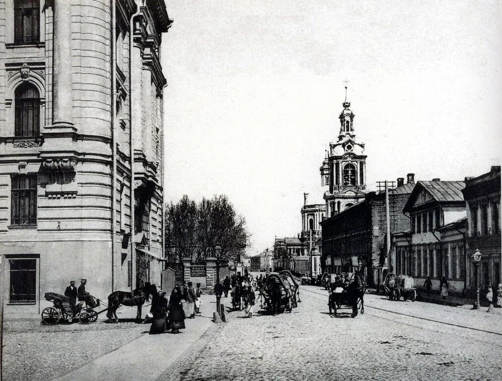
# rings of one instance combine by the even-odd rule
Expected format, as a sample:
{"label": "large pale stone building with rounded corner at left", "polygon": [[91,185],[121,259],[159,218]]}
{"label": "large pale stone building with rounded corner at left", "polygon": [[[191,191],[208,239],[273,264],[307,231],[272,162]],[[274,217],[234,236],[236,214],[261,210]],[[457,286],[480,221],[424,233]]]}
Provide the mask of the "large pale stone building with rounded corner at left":
{"label": "large pale stone building with rounded corner at left", "polygon": [[7,311],[81,278],[100,299],[160,284],[164,1],[7,0],[0,19]]}

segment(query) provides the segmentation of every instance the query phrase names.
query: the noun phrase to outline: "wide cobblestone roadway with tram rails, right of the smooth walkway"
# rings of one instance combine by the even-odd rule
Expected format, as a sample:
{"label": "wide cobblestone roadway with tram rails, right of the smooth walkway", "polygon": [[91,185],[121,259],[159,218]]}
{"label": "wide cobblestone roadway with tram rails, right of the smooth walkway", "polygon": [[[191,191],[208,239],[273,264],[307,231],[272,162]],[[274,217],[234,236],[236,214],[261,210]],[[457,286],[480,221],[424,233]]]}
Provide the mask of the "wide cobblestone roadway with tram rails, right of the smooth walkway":
{"label": "wide cobblestone roadway with tram rails, right of the smooth walkway", "polygon": [[366,295],[364,315],[331,317],[326,295],[302,286],[291,314],[231,313],[159,379],[501,379],[499,314]]}

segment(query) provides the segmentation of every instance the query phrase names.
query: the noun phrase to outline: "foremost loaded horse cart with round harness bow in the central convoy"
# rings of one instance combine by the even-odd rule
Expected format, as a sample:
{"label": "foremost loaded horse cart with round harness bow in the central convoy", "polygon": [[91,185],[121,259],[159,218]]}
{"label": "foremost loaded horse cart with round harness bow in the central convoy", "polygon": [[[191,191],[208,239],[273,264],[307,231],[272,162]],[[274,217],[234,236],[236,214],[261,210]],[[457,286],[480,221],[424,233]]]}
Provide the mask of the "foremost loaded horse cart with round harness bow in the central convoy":
{"label": "foremost loaded horse cart with round harness bow in the central convoy", "polygon": [[285,274],[270,273],[260,288],[262,308],[265,307],[269,313],[291,312],[293,305],[296,306],[296,289],[289,283],[288,278]]}

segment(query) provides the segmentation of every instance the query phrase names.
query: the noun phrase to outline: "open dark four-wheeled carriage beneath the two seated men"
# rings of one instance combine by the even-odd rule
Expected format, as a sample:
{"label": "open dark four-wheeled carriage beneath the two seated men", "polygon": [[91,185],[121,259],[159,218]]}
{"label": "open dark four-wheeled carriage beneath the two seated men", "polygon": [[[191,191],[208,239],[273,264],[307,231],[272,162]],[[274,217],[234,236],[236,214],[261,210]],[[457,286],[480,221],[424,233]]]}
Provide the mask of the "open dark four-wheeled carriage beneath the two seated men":
{"label": "open dark four-wheeled carriage beneath the two seated men", "polygon": [[72,306],[70,298],[53,292],[45,293],[44,297],[45,300],[53,303],[52,307],[44,308],[42,311],[42,321],[47,325],[58,324],[61,320],[79,319],[81,323],[97,320],[98,313],[93,308],[99,306],[99,299],[94,298],[93,307],[90,307],[85,302],[79,302]]}

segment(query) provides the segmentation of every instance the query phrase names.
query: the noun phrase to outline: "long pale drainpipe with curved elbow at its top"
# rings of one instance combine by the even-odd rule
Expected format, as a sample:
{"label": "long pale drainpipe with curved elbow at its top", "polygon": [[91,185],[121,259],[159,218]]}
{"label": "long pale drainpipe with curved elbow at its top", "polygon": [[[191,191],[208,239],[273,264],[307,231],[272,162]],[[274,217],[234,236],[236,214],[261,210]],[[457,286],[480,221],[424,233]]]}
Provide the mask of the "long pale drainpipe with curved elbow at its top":
{"label": "long pale drainpipe with curved elbow at its top", "polygon": [[[129,20],[129,155],[131,160],[131,189],[130,189],[130,205],[131,205],[131,292],[133,292],[136,283],[136,255],[134,251],[134,230],[135,230],[135,210],[134,210],[134,140],[133,140],[133,94],[136,93],[132,86],[132,62],[133,62],[133,46],[134,46],[134,18],[140,15],[140,7],[136,4],[136,12]],[[129,270],[129,269],[128,269]],[[134,271],[133,271],[134,270]],[[134,275],[134,277],[133,277]],[[135,286],[133,286],[135,285]]]}

